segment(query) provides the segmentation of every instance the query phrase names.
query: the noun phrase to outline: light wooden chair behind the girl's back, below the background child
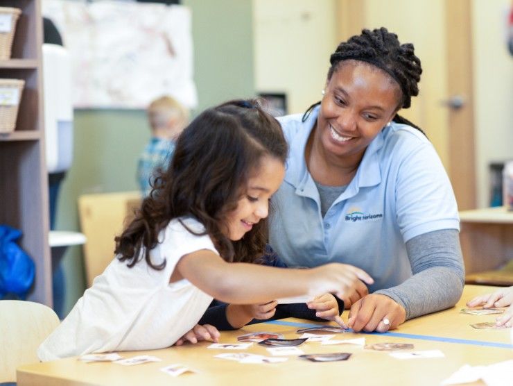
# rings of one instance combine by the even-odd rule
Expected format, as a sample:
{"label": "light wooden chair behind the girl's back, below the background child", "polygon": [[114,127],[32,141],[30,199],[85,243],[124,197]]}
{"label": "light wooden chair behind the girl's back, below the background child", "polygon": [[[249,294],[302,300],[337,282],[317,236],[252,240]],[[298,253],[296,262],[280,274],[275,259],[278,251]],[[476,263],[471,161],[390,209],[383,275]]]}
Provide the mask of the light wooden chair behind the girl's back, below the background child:
{"label": "light wooden chair behind the girl's back, below the background child", "polygon": [[84,244],[87,287],[114,258],[114,237],[119,235],[134,210],[141,205],[139,192],[83,194],[78,197],[80,231]]}

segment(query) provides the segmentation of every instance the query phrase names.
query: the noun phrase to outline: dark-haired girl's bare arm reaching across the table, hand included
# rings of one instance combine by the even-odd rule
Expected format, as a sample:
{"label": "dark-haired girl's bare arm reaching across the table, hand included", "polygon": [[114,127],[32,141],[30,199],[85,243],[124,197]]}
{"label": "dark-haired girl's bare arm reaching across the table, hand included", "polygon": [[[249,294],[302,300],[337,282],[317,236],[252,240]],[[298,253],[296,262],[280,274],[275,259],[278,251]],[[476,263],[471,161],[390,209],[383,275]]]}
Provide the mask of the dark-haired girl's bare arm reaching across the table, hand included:
{"label": "dark-haired girl's bare arm reaching across the table, hand included", "polygon": [[267,303],[288,296],[342,296],[359,280],[374,280],[362,269],[332,263],[313,269],[279,269],[247,263],[228,263],[212,251],[182,256],[173,278],[186,278],[214,299],[234,304]]}

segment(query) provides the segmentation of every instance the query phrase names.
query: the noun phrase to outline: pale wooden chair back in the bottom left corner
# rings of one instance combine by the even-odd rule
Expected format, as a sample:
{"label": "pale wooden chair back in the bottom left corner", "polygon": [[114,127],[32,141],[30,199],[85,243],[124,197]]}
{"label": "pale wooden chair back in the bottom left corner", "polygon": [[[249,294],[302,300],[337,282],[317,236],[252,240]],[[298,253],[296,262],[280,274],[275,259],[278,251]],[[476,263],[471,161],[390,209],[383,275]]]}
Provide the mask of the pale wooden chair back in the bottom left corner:
{"label": "pale wooden chair back in the bottom left corner", "polygon": [[31,301],[0,301],[0,383],[16,382],[16,368],[39,362],[37,347],[59,325],[57,314]]}

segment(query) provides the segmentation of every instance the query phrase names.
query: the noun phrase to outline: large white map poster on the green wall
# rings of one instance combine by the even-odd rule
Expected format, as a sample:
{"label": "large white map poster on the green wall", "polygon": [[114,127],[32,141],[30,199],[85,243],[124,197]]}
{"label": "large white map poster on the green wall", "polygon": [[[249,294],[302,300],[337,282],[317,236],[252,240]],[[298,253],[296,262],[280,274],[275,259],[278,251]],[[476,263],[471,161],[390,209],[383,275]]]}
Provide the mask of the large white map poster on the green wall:
{"label": "large white map poster on the green wall", "polygon": [[191,12],[124,1],[42,1],[72,60],[75,108],[146,108],[171,95],[195,108]]}

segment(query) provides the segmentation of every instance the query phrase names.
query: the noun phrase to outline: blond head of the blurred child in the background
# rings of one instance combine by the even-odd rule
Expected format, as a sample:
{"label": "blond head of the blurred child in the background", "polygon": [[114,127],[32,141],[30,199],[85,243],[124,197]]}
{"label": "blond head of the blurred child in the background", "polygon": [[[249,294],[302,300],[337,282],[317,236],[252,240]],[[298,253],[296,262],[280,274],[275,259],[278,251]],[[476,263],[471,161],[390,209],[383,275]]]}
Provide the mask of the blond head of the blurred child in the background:
{"label": "blond head of the blurred child in the background", "polygon": [[189,110],[172,97],[160,97],[148,106],[148,121],[154,137],[173,140],[189,121]]}

